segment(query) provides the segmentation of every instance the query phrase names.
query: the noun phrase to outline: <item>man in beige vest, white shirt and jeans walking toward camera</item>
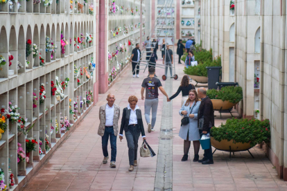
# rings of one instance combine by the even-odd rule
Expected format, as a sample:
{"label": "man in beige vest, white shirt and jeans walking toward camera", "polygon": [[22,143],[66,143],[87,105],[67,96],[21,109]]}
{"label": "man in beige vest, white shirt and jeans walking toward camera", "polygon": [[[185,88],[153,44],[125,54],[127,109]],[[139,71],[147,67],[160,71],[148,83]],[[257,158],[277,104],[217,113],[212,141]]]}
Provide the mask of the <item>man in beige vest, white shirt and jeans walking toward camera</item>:
{"label": "man in beige vest, white shirt and jeans walking toward camera", "polygon": [[114,95],[107,95],[107,104],[100,107],[99,117],[100,125],[98,127],[98,135],[102,137],[103,164],[107,163],[109,154],[107,153],[107,142],[110,136],[111,143],[111,163],[110,167],[116,167],[116,136],[119,133],[118,121],[120,116],[120,107],[114,104]]}

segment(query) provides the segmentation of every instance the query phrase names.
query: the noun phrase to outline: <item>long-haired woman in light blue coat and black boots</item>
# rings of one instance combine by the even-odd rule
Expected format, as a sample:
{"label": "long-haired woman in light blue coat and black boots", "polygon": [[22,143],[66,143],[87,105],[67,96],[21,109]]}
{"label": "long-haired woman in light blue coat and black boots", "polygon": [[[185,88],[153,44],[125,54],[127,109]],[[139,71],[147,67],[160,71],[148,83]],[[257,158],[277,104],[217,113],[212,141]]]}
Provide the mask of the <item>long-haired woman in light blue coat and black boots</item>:
{"label": "long-haired woman in light blue coat and black boots", "polygon": [[194,158],[193,162],[198,161],[198,152],[200,149],[200,133],[198,130],[198,109],[200,107],[200,101],[198,99],[198,93],[195,89],[189,91],[189,98],[182,104],[180,109],[180,116],[189,117],[189,124],[182,125],[180,127],[180,138],[184,139],[184,156],[182,161],[187,161],[189,148],[191,147],[191,141],[193,141]]}

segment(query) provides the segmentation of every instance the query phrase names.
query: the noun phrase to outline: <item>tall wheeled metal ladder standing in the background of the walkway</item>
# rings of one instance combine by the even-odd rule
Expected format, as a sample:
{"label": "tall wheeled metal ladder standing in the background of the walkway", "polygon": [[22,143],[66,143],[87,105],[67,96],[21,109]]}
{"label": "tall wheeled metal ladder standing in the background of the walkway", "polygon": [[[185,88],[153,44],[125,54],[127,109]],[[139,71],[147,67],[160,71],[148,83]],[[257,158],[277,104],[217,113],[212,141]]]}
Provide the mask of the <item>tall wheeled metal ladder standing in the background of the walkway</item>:
{"label": "tall wheeled metal ladder standing in the background of the walkway", "polygon": [[[162,6],[162,10],[165,10],[165,12],[160,12],[159,16],[157,16],[157,19],[155,19],[155,25],[153,26],[152,30],[150,30],[150,34],[148,36],[148,37],[150,37],[150,40],[156,39],[157,42],[158,42],[158,37],[157,36],[161,33],[161,31],[164,28],[165,28],[166,31],[168,31],[165,34],[165,39],[167,39],[168,37],[172,37],[172,39],[175,39],[174,38],[174,36],[175,36],[175,34],[174,34],[174,32],[175,32],[174,27],[175,26],[174,25],[175,24],[173,23],[173,25],[171,25],[172,27],[169,27],[169,26],[168,26],[168,28],[166,27],[166,24],[168,23],[167,22],[167,20],[168,20],[168,17],[167,17],[168,12],[171,13],[171,14],[173,13],[172,12],[172,8],[173,8],[172,6],[173,6],[173,0],[165,0],[164,1],[164,6]],[[164,17],[164,21],[166,21],[166,24],[162,25],[161,28],[160,27],[157,28],[157,25],[158,25],[157,24],[157,20],[158,19],[162,19],[163,17],[161,17],[161,16],[163,14],[165,16]],[[172,21],[172,19],[174,19],[174,17],[171,17],[170,21]],[[158,30],[159,30],[159,33],[155,33],[155,31],[158,31]],[[170,30],[173,31],[173,35],[168,35]],[[155,37],[151,37],[152,35],[155,35]],[[157,42],[151,42],[150,44],[157,44]],[[175,50],[174,50],[175,48],[174,47],[175,46],[174,46],[174,42],[173,42],[173,54],[175,53]],[[146,71],[146,69],[148,68],[148,64],[153,64],[153,66],[155,66],[155,68],[161,68],[161,69],[165,69],[166,68],[165,64],[163,65],[163,64],[157,64],[155,62],[149,62],[151,54],[153,53],[153,51],[146,51],[146,48],[155,48],[154,46],[148,46],[148,47],[143,46],[143,48],[144,48],[144,50],[141,53],[141,57],[139,58],[139,62],[132,61],[132,63],[137,63],[137,65],[134,67],[134,71],[133,72],[143,70],[143,73],[144,73]],[[165,44],[165,50],[166,50],[166,44]],[[171,55],[169,55],[168,51],[164,51],[164,52],[165,52],[164,53],[164,58],[165,58],[164,63],[166,63],[166,57],[168,56],[168,57],[171,58]],[[150,53],[150,55],[148,55],[148,53]],[[143,56],[148,58],[148,60],[147,59],[146,60],[142,60]],[[137,66],[139,66],[139,67],[140,66],[144,66],[144,68],[143,69],[141,69],[141,68],[137,69]],[[173,76],[171,76],[171,78],[177,80],[178,76],[177,76],[177,74],[175,74],[175,57],[173,57],[172,71],[173,71]],[[166,80],[166,78],[167,78],[166,75],[162,76],[162,80]]]}

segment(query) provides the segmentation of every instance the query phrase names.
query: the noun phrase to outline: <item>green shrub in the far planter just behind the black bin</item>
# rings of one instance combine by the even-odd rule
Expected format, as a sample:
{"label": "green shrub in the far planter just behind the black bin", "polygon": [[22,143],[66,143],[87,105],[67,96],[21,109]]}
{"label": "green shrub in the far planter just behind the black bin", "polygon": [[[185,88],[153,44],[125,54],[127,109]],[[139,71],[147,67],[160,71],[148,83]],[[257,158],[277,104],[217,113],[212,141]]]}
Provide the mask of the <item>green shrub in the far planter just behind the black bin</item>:
{"label": "green shrub in the far planter just behind the black bin", "polygon": [[216,57],[216,60],[213,61],[212,58],[211,60],[205,60],[205,62],[202,62],[201,60],[200,62],[198,62],[198,66],[189,66],[188,68],[184,68],[184,73],[187,75],[198,75],[207,77],[207,66],[221,66],[221,57]]}

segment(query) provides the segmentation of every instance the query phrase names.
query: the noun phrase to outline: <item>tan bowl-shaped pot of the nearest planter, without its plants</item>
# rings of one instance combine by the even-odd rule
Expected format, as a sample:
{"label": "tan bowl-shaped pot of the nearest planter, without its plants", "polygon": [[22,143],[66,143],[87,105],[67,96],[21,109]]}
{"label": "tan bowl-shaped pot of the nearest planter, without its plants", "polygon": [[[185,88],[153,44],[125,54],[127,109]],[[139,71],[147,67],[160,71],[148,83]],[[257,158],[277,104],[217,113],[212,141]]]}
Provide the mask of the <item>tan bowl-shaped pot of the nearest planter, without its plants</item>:
{"label": "tan bowl-shaped pot of the nearest planter, without its plants", "polygon": [[212,136],[210,138],[211,145],[218,150],[223,150],[227,152],[239,152],[250,149],[250,143],[234,143],[233,140],[221,140],[220,142],[215,140]]}

